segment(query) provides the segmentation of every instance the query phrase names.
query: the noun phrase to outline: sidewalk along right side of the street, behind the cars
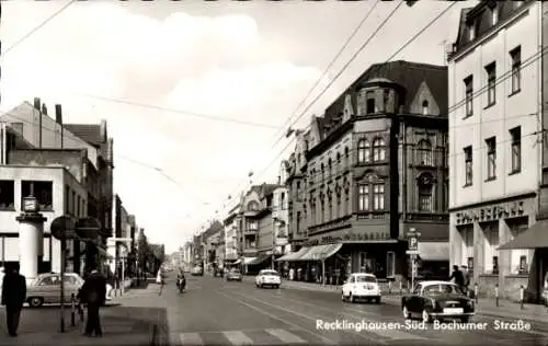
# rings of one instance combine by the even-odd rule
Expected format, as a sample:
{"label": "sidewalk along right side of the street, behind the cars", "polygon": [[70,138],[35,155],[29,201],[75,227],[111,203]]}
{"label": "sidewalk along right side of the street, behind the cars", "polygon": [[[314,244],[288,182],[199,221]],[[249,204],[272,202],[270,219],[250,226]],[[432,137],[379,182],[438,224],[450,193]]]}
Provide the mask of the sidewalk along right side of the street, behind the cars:
{"label": "sidewalk along right side of the street, behind the cars", "polygon": [[[254,278],[246,277],[247,280],[252,281]],[[315,290],[315,291],[330,291],[333,293],[341,293],[341,286],[326,285],[301,281],[283,280],[282,286],[292,289]],[[383,292],[383,301],[389,304],[399,305],[401,303],[401,296],[399,287],[388,291],[388,285],[381,284],[380,289]],[[403,289],[403,295],[407,291]],[[510,300],[500,300],[499,307],[495,305],[494,299],[480,298],[477,304],[478,314],[504,318],[504,319],[523,319],[530,321],[539,321],[548,323],[548,308],[541,304],[524,304],[523,309],[520,303]]]}

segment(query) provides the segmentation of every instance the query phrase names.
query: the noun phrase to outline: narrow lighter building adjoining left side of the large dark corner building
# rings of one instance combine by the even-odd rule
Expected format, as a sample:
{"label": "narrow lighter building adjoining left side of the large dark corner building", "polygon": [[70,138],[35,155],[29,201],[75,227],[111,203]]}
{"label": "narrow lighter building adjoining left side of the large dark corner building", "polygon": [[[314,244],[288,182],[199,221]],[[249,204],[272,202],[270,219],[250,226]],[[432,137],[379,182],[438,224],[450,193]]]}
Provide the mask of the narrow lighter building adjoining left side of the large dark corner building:
{"label": "narrow lighter building adjoining left side of the large dark corner building", "polygon": [[282,180],[282,183],[287,187],[288,195],[288,240],[294,252],[302,246],[308,237],[306,204],[308,134],[297,131],[295,150],[289,159],[282,163],[286,169],[286,178]]}

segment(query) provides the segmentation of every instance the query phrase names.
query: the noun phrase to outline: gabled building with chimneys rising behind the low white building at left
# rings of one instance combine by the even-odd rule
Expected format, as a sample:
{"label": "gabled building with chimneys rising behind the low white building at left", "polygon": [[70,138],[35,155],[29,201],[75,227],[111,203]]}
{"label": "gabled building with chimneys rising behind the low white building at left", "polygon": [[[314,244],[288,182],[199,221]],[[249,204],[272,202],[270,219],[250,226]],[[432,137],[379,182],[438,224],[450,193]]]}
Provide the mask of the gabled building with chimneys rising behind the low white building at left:
{"label": "gabled building with chimneys rising behind the low white building at left", "polygon": [[[34,104],[23,102],[2,114],[0,120],[9,124],[33,148],[38,150],[85,149],[89,163],[82,165],[87,177],[88,217],[102,223],[98,240],[90,239],[82,245],[76,244],[76,253],[85,253],[84,264],[102,264],[106,255],[106,238],[111,235],[112,186],[113,186],[113,140],[107,137],[106,120],[99,125],[64,124],[61,106],[55,106],[53,119],[47,107],[36,97]],[[78,263],[78,262],[77,262]],[[75,269],[82,270],[83,268]]]}

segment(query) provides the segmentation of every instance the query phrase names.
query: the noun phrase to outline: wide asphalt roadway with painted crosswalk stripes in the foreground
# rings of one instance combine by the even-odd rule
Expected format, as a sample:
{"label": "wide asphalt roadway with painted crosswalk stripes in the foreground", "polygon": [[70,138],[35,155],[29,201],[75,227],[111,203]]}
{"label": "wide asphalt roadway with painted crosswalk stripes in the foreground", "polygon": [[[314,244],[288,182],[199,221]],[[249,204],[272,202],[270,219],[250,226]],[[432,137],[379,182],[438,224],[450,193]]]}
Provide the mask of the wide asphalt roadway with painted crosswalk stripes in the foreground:
{"label": "wide asphalt roadway with painted crosswalk stripes in the foreground", "polygon": [[[548,345],[546,323],[496,330],[498,323],[515,323],[520,316],[477,315],[468,325],[473,331],[447,330],[452,323],[422,330],[413,321],[410,326],[396,299],[350,303],[333,292],[259,289],[251,281],[190,275],[183,293],[170,280],[162,297],[171,345]],[[338,330],[327,330],[333,322]]]}

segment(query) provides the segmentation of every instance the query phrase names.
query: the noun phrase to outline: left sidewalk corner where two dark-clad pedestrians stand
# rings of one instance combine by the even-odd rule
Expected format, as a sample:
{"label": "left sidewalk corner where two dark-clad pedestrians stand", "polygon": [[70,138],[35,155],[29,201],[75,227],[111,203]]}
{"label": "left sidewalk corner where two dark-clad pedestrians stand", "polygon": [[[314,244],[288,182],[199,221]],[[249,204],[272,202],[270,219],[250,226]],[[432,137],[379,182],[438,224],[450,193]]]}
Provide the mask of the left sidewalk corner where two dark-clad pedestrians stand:
{"label": "left sidewalk corner where two dark-clad pedestrians stand", "polygon": [[165,308],[158,296],[159,287],[133,288],[116,297],[101,309],[103,337],[82,335],[85,321],[76,314],[71,326],[70,307],[65,309],[65,333],[60,330],[60,308],[45,305],[39,309],[24,308],[19,336],[11,338],[5,333],[5,313],[0,309],[0,345],[160,345],[165,327]]}

